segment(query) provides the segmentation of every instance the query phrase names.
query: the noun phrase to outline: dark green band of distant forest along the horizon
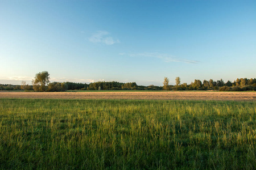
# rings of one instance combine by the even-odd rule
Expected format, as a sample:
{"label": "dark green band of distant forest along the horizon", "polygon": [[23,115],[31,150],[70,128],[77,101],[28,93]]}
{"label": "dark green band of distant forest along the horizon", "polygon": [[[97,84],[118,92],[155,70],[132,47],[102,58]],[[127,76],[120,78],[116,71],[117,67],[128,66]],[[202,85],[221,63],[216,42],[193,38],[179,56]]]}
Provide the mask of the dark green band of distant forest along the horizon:
{"label": "dark green band of distant forest along the horizon", "polygon": [[[178,77],[179,78],[179,77]],[[167,82],[166,82],[167,81]],[[67,91],[67,90],[219,90],[219,91],[256,91],[256,79],[237,78],[234,82],[224,82],[222,79],[214,81],[212,79],[196,80],[190,84],[180,84],[180,78],[176,78],[176,85],[169,85],[165,78],[163,86],[138,86],[135,82],[94,82],[94,83],[73,83],[73,82],[52,82],[44,90],[39,90],[36,86],[22,82],[21,85],[0,84],[0,90],[25,90],[25,91]]]}

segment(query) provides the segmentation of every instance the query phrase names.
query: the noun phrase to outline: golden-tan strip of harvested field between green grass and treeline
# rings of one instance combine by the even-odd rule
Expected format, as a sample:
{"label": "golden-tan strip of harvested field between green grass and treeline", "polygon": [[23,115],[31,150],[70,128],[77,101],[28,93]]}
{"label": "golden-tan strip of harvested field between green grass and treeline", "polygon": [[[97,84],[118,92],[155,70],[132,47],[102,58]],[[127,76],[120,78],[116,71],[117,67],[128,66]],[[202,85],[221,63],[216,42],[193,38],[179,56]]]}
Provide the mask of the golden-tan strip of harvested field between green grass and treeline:
{"label": "golden-tan strip of harvested field between green grass and treeline", "polygon": [[0,92],[0,98],[23,99],[148,99],[255,101],[256,92],[130,91],[130,92]]}

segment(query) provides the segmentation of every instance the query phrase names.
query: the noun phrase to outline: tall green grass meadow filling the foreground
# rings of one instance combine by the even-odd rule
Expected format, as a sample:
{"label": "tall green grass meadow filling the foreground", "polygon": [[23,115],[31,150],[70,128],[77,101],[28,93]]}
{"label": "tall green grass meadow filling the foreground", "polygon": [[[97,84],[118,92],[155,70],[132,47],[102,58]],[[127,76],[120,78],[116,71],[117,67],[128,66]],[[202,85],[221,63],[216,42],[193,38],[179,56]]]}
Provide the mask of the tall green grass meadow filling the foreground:
{"label": "tall green grass meadow filling the foreground", "polygon": [[0,99],[0,169],[256,169],[256,102]]}

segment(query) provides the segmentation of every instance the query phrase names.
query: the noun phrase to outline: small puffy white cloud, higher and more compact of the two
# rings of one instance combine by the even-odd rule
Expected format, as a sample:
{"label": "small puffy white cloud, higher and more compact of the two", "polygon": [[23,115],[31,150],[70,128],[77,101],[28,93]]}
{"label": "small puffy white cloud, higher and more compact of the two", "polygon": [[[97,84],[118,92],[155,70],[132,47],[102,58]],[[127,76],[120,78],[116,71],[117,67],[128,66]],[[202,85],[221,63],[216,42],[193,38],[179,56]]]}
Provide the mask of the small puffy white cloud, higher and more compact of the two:
{"label": "small puffy white cloud, higher and more compact of the two", "polygon": [[106,45],[120,43],[119,40],[114,40],[113,37],[109,35],[110,33],[108,31],[97,31],[96,33],[92,34],[92,36],[89,38],[89,41],[93,43],[102,43]]}

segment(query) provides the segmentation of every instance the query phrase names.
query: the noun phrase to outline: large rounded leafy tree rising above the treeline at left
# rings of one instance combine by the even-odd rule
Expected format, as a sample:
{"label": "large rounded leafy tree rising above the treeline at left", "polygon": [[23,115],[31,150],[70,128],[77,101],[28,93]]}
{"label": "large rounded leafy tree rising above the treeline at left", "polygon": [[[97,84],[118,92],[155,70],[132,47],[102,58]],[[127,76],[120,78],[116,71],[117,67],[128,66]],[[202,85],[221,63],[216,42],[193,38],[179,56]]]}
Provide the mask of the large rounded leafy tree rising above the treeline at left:
{"label": "large rounded leafy tree rising above the treeline at left", "polygon": [[35,75],[35,79],[32,80],[33,89],[35,91],[46,91],[49,83],[48,71],[42,71]]}

